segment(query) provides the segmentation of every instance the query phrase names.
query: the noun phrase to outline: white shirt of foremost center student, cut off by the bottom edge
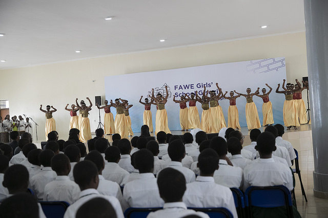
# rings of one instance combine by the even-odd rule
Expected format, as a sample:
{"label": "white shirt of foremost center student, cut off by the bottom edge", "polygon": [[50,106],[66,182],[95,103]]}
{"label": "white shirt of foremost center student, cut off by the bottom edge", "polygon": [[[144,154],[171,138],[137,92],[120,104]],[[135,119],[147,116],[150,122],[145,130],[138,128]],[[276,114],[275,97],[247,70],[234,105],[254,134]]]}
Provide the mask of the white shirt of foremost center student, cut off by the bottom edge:
{"label": "white shirt of foremost center student, cut off by the bottom edge", "polygon": [[150,212],[147,218],[181,218],[183,216],[193,214],[202,218],[210,218],[210,216],[206,213],[187,209],[186,204],[183,202],[165,203],[163,209],[157,210],[155,212]]}

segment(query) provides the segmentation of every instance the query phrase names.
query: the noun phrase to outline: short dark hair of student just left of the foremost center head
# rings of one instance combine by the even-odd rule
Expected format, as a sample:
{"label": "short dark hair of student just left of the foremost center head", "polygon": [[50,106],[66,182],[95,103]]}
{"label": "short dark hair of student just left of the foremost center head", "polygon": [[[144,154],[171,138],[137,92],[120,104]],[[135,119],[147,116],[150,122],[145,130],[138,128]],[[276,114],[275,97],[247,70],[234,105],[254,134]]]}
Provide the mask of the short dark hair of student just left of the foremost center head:
{"label": "short dark hair of student just left of the foremost center head", "polygon": [[153,173],[154,155],[147,149],[141,149],[134,153],[134,165],[139,169],[139,173]]}

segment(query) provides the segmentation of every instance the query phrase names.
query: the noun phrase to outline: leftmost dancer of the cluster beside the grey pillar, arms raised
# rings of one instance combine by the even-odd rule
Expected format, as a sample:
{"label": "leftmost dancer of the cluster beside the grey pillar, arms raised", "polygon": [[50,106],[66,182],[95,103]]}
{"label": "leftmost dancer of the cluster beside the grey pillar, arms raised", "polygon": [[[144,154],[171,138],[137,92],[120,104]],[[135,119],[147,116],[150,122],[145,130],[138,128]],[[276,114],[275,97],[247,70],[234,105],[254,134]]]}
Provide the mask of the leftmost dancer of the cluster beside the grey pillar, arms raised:
{"label": "leftmost dancer of the cluster beside the grey pillar, arms raised", "polygon": [[280,83],[276,89],[276,93],[282,93],[285,95],[285,102],[283,103],[283,123],[287,127],[287,130],[291,130],[293,126],[297,130],[296,126],[299,126],[298,114],[293,101],[293,91],[291,90],[290,84],[285,86],[286,80],[283,80],[282,88],[284,91],[279,91]]}

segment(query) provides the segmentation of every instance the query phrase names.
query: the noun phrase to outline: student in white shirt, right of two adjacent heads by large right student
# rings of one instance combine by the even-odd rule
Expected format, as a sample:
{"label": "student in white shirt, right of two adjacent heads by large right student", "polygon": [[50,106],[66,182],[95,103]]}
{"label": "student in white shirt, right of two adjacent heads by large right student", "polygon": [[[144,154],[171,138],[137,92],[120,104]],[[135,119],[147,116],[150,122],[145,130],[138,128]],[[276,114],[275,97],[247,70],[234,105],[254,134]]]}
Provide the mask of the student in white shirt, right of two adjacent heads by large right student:
{"label": "student in white shirt, right of two adjacent heads by large right student", "polygon": [[238,138],[229,137],[227,144],[228,144],[228,152],[230,152],[232,155],[229,159],[234,166],[239,166],[240,168],[243,169],[246,165],[252,162],[250,159],[246,159],[241,156],[240,153],[241,153],[242,146]]}

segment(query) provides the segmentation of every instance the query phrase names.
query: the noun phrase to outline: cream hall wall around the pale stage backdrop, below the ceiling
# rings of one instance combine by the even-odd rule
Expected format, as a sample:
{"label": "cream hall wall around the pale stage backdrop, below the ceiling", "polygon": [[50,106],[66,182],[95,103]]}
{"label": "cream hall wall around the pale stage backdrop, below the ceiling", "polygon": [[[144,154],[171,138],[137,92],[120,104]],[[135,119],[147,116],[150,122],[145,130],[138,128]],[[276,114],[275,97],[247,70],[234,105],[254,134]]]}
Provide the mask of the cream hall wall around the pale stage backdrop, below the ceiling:
{"label": "cream hall wall around the pale stage backdrop, below the ceiling", "polygon": [[[95,104],[96,95],[101,95],[104,103],[104,78],[107,76],[272,57],[285,57],[288,82],[295,83],[296,78],[301,81],[302,77],[308,76],[305,32],[4,69],[0,70],[0,100],[9,100],[11,116],[26,114],[38,123],[38,140],[45,139],[46,121],[39,106],[42,104],[46,109],[46,105],[53,105],[58,110],[53,117],[59,138],[67,139],[70,115],[64,110],[66,104],[75,104],[76,98],[78,102],[82,99],[86,101],[86,97]],[[213,82],[220,84],[220,81]],[[277,84],[270,81],[268,84],[275,91]],[[259,87],[264,85],[259,84]],[[129,90],[129,87],[122,84],[122,89]],[[119,96],[112,98],[114,100]],[[283,95],[281,98],[284,98]],[[306,104],[305,91],[303,100]],[[98,126],[98,109],[93,107],[89,113],[91,131],[94,132]],[[104,110],[101,111],[101,122],[103,117]],[[35,126],[33,133],[35,138]]]}

